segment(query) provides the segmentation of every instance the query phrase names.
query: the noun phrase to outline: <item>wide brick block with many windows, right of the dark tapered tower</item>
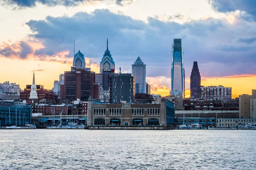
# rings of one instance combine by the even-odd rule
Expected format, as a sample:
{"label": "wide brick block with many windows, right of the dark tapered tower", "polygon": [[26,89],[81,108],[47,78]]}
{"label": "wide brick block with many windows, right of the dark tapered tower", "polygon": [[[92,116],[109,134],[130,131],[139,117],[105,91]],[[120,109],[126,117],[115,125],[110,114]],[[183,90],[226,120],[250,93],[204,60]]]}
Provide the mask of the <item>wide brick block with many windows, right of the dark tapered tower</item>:
{"label": "wide brick block with many windows, right of the dark tapered tower", "polygon": [[225,88],[222,85],[201,87],[201,98],[204,99],[231,99],[232,88]]}

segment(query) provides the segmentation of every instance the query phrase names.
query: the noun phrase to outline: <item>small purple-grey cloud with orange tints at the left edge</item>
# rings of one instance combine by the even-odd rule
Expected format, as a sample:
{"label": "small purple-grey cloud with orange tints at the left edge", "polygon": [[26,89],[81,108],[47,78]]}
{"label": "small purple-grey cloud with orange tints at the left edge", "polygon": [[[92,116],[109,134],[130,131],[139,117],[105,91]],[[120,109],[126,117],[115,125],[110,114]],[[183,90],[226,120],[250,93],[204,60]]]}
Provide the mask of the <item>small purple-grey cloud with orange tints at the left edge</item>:
{"label": "small purple-grey cloud with orange tints at the left edge", "polygon": [[12,45],[4,44],[0,46],[0,54],[5,57],[17,57],[24,59],[28,54],[32,53],[32,47],[25,41],[20,41]]}

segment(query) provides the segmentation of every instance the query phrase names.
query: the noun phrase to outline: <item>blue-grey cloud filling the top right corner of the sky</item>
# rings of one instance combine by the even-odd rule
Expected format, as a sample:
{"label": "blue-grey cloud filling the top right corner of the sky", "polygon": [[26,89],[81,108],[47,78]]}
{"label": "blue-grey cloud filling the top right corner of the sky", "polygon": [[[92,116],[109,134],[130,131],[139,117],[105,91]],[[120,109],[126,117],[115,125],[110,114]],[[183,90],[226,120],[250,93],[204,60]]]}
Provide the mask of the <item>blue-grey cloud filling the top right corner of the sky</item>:
{"label": "blue-grey cloud filling the top right corner of the sky", "polygon": [[255,0],[209,0],[212,7],[220,12],[245,11],[256,19]]}

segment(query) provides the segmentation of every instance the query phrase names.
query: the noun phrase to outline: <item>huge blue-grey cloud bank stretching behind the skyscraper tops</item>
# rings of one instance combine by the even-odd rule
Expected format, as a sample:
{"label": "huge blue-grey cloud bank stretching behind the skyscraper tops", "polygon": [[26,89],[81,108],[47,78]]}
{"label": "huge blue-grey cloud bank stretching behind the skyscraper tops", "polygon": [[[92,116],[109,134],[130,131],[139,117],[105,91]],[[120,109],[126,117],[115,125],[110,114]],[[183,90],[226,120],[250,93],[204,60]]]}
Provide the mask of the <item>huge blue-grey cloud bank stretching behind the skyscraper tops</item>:
{"label": "huge blue-grey cloud bank stretching behind the skyscraper tops", "polygon": [[182,40],[186,77],[194,61],[198,61],[201,76],[255,74],[256,48],[237,41],[241,40],[237,35],[256,37],[255,23],[243,21],[232,25],[223,18],[184,24],[152,17],[147,21],[98,9],[92,14],[79,12],[72,17],[47,17],[26,24],[33,32],[29,36],[45,47],[34,53],[40,59],[52,56],[55,60],[55,54],[61,51],[70,51],[67,57],[73,57],[75,39],[76,52],[80,49],[92,63],[99,64],[108,38],[116,68],[121,66],[122,71],[131,72],[131,64],[140,56],[147,65],[148,77],[171,77],[173,39],[186,36]]}

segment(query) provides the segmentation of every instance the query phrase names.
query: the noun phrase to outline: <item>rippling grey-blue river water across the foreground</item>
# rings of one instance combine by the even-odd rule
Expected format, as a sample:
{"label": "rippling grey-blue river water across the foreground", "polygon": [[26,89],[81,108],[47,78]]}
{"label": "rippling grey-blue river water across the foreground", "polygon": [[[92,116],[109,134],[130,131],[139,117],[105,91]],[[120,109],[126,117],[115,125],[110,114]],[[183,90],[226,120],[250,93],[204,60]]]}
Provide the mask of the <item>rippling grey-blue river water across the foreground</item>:
{"label": "rippling grey-blue river water across the foreground", "polygon": [[256,130],[0,130],[1,170],[255,170]]}

